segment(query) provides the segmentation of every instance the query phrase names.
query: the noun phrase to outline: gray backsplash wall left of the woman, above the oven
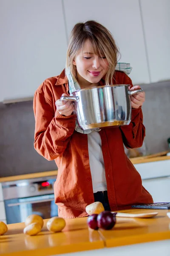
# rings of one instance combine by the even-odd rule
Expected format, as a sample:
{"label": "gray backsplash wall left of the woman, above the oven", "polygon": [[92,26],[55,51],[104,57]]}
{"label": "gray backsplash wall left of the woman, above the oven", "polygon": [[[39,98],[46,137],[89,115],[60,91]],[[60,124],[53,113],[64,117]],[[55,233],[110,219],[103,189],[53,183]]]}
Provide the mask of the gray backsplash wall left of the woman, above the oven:
{"label": "gray backsplash wall left of the woman, above the oven", "polygon": [[57,169],[34,149],[32,104],[0,104],[0,177]]}

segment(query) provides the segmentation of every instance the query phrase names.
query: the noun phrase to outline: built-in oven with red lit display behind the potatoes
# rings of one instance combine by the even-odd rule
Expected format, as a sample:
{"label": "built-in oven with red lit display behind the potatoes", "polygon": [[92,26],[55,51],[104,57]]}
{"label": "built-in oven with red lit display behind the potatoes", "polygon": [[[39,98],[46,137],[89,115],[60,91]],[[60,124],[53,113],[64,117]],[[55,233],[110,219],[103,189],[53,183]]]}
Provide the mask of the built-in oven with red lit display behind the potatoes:
{"label": "built-in oven with red lit display behind the potatoes", "polygon": [[55,176],[2,183],[7,224],[25,222],[30,214],[58,216],[54,202]]}

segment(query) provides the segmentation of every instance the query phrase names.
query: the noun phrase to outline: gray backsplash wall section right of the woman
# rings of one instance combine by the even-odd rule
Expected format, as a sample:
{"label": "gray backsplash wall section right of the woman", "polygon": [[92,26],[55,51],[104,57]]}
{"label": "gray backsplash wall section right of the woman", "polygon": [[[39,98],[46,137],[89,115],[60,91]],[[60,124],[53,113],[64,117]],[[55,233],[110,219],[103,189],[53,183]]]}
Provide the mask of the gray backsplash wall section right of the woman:
{"label": "gray backsplash wall section right of the woman", "polygon": [[146,101],[142,107],[148,153],[168,150],[170,137],[170,81],[146,84]]}

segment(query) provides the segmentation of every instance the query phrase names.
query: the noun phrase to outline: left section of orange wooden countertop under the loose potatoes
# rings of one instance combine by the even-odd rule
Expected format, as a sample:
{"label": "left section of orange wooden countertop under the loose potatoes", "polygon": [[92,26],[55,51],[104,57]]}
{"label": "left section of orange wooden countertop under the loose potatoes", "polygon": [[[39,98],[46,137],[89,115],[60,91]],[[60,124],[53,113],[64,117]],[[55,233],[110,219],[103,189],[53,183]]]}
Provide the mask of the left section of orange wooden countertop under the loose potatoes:
{"label": "left section of orange wooden countertop under the loose potatoes", "polygon": [[23,234],[24,223],[9,224],[8,232],[0,236],[0,256],[49,256],[104,248],[97,231],[89,231],[87,218],[66,219],[62,232],[52,233],[46,229],[37,236]]}

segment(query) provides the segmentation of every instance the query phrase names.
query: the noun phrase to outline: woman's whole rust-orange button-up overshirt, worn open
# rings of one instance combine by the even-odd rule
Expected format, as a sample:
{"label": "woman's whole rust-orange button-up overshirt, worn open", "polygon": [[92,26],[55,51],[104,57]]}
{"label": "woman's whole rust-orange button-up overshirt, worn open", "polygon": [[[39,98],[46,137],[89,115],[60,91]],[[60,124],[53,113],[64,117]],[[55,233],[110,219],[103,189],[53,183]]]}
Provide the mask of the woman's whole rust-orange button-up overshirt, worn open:
{"label": "woman's whole rust-orange button-up overshirt, worn open", "polygon": [[[114,84],[130,84],[123,72],[115,71]],[[104,85],[104,80],[100,81]],[[65,70],[60,76],[46,79],[34,95],[34,147],[47,160],[55,160],[58,167],[54,184],[58,214],[63,218],[87,216],[85,207],[94,202],[88,156],[88,137],[74,130],[76,116],[62,116],[55,102],[62,93],[69,95]],[[127,126],[103,128],[99,131],[105,163],[108,200],[112,211],[132,204],[153,203],[149,192],[133,164],[127,158],[127,148],[142,146],[145,128],[141,108],[132,109]]]}

